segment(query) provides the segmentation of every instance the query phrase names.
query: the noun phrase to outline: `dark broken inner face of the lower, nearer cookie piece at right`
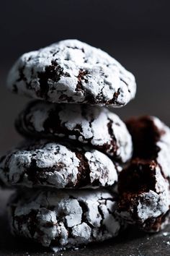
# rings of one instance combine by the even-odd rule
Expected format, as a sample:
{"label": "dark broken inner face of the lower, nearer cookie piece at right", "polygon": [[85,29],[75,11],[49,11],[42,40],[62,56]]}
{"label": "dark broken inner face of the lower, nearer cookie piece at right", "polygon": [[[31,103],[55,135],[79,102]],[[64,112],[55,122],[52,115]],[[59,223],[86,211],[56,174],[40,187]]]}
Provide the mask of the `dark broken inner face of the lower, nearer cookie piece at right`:
{"label": "dark broken inner face of the lower, nearer cookie piece at right", "polygon": [[155,190],[156,163],[154,161],[133,159],[128,168],[120,172],[119,192],[120,194],[140,194],[148,192],[150,189]]}

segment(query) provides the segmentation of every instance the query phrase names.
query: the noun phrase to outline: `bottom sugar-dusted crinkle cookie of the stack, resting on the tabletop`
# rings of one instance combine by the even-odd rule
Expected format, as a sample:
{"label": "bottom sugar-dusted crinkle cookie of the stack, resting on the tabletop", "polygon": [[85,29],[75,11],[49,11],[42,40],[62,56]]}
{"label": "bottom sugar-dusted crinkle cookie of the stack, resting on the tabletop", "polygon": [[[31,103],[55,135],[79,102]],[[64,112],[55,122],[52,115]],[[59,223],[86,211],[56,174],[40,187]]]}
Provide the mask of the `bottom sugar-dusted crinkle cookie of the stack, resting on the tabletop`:
{"label": "bottom sugar-dusted crinkle cookie of the stack, resting on the tabletop", "polygon": [[117,236],[115,195],[104,189],[22,192],[9,202],[12,233],[45,247],[77,247]]}

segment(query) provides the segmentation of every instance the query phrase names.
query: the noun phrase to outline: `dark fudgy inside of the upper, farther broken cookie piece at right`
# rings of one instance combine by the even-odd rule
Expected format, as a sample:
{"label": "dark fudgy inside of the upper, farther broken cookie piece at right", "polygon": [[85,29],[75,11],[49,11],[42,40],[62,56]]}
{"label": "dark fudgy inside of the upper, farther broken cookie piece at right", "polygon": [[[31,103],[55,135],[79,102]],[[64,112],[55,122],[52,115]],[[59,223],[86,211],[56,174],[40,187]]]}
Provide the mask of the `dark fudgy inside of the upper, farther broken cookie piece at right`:
{"label": "dark fudgy inside of the upper, farther broken cookie piece at right", "polygon": [[156,142],[164,131],[155,126],[150,116],[129,119],[126,125],[133,138],[133,157],[156,159],[159,151]]}

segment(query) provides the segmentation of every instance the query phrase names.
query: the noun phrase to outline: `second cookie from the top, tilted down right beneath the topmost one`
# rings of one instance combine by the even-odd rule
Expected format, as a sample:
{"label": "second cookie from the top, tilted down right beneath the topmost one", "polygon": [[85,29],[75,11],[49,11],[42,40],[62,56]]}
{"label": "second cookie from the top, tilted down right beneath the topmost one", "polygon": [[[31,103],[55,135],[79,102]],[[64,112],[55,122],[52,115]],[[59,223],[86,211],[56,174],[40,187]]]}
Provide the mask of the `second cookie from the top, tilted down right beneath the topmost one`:
{"label": "second cookie from the top, tilted down right beneath the topmost one", "polygon": [[31,137],[63,137],[92,145],[126,162],[133,143],[125,124],[107,108],[33,101],[19,114],[17,130]]}

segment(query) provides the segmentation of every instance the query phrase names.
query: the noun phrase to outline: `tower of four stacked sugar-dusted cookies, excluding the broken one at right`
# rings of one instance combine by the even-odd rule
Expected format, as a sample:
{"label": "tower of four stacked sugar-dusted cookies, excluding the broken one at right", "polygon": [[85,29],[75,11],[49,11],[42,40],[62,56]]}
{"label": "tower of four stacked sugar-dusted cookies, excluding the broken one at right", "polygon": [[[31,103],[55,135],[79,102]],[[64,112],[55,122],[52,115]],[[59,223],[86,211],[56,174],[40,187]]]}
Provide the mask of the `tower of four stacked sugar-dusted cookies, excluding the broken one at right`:
{"label": "tower of four stacked sugar-dusted cookies, excluding the broken one at right", "polygon": [[117,196],[96,188],[115,185],[133,153],[127,127],[105,107],[134,98],[133,74],[104,51],[63,40],[22,55],[8,87],[37,99],[16,120],[17,131],[33,140],[0,160],[4,184],[22,187],[11,202],[14,234],[57,247],[116,236],[124,226],[116,215]]}

